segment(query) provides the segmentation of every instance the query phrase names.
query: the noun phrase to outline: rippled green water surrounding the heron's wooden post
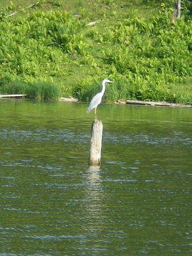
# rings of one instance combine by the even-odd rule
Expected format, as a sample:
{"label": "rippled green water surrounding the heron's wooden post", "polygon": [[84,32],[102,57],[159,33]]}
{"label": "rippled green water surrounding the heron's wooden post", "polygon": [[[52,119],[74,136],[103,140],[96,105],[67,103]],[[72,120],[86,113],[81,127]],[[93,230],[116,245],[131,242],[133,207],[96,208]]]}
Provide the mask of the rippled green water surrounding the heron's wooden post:
{"label": "rippled green water surrounding the heron's wooden post", "polygon": [[0,101],[0,255],[191,255],[191,109]]}

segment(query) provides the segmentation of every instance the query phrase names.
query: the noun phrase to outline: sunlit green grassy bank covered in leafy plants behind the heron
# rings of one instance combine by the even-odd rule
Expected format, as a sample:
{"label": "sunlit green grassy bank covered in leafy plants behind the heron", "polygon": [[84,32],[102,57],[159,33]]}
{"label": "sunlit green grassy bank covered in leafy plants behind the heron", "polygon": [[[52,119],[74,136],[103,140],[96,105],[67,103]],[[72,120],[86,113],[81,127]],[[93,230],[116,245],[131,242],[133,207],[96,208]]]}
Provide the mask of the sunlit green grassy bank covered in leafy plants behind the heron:
{"label": "sunlit green grassy bank covered in leafy plants behind the heron", "polygon": [[[0,22],[0,93],[192,104],[189,6],[174,26],[173,1],[6,1]],[[17,3],[17,4],[16,4]],[[95,26],[86,26],[98,20]]]}

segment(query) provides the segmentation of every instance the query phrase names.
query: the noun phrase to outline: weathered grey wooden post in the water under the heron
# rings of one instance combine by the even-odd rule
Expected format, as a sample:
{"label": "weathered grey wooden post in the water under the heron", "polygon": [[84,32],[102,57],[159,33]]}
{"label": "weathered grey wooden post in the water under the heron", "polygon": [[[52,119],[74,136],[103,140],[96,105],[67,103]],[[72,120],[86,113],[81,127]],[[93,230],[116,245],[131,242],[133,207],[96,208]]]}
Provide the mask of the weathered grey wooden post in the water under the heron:
{"label": "weathered grey wooden post in the water under the heron", "polygon": [[100,152],[102,147],[102,122],[95,119],[92,124],[89,166],[100,166]]}

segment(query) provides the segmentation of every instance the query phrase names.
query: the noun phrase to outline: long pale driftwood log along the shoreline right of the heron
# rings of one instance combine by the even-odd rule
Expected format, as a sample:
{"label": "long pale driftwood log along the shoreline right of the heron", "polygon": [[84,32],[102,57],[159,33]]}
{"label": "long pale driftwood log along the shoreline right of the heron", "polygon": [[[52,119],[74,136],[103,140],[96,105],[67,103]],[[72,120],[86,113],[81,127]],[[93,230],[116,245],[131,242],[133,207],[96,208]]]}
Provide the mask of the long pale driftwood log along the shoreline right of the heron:
{"label": "long pale driftwood log along the shoreline right of the heron", "polygon": [[142,101],[142,100],[126,100],[126,101],[117,100],[117,103],[130,104],[130,105],[144,105],[144,106],[163,106],[163,107],[192,108],[192,106],[184,105],[184,104],[175,104],[175,103],[168,103],[168,102]]}

